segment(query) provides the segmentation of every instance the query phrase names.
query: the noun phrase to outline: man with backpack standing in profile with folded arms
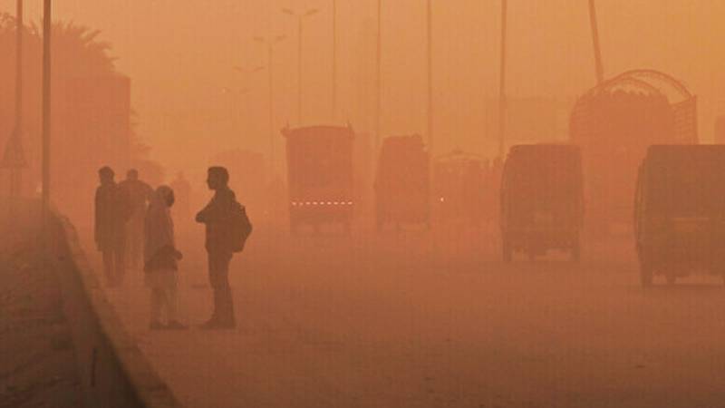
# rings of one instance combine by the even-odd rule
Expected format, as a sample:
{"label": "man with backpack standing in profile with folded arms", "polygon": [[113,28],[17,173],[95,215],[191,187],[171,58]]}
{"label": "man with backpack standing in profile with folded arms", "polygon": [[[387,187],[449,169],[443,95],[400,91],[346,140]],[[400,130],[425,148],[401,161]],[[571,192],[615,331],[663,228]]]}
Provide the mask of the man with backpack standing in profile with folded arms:
{"label": "man with backpack standing in profile with folded arms", "polygon": [[228,183],[227,169],[210,167],[207,184],[214,190],[214,198],[197,214],[197,222],[207,229],[209,283],[214,291],[214,312],[208,322],[201,325],[208,330],[232,329],[237,325],[229,286],[229,262],[235,252],[244,249],[252,232],[247,213]]}

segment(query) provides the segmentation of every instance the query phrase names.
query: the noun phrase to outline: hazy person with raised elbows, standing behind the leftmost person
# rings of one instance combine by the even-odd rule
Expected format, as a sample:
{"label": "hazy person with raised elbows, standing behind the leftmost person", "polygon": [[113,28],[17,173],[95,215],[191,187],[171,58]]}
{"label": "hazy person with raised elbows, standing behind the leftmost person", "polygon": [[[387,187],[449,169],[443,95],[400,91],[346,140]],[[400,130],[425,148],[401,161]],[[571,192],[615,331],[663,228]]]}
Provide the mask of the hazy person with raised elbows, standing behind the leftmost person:
{"label": "hazy person with raised elbows, standing behind the leftmost person", "polygon": [[146,216],[146,205],[150,202],[153,189],[139,180],[139,171],[135,169],[126,173],[126,180],[121,181],[119,187],[131,201],[131,219],[126,224],[126,233],[129,238],[128,259],[131,267],[139,269],[143,258],[143,222]]}

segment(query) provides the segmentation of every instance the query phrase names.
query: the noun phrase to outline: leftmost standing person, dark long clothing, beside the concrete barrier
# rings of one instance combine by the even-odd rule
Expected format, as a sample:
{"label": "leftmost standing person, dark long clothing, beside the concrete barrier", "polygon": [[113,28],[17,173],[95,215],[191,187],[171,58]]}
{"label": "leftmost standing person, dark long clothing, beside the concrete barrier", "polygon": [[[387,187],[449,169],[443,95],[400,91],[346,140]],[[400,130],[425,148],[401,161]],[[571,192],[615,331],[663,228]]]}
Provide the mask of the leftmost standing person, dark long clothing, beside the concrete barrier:
{"label": "leftmost standing person, dark long clothing, beside the concrete barrier", "polygon": [[126,221],[131,203],[113,180],[110,167],[98,171],[101,186],[95,197],[95,241],[103,254],[103,271],[108,287],[119,287],[125,275]]}

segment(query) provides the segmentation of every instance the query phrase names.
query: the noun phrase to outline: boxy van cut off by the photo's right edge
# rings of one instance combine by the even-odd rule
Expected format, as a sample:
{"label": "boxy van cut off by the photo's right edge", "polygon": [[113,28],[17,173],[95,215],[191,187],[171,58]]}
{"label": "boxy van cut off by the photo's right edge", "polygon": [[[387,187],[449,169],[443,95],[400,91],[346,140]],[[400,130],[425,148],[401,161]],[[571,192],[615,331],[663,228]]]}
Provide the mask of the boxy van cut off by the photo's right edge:
{"label": "boxy van cut off by the photo's right edge", "polygon": [[639,169],[634,233],[643,287],[692,272],[725,277],[725,146],[652,146]]}

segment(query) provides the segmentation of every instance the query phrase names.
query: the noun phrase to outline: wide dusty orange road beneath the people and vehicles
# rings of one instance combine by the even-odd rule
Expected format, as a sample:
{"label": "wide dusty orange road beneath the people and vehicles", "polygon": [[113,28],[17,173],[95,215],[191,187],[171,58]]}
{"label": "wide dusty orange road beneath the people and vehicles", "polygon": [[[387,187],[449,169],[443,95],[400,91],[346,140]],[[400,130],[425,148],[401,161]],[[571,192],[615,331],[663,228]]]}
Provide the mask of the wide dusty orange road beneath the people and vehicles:
{"label": "wide dusty orange road beneath the people and vehicles", "polygon": [[[260,232],[233,261],[233,332],[150,332],[140,272],[110,296],[189,407],[725,406],[719,279],[643,291],[627,237],[579,265],[454,237]],[[210,292],[182,246],[195,324]]]}

